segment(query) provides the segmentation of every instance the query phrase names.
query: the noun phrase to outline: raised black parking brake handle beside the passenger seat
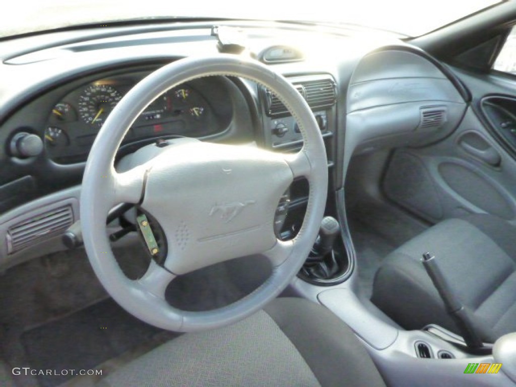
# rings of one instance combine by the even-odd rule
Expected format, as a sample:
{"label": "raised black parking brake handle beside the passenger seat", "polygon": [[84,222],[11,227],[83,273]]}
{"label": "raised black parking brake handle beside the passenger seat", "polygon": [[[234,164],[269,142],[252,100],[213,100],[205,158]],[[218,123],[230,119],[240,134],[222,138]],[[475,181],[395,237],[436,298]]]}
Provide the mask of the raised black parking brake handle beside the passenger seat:
{"label": "raised black parking brake handle beside the passenger seat", "polygon": [[423,254],[422,261],[428,276],[444,302],[446,311],[455,320],[466,345],[472,349],[483,347],[482,340],[480,340],[469,315],[444,278],[436,257],[427,252]]}

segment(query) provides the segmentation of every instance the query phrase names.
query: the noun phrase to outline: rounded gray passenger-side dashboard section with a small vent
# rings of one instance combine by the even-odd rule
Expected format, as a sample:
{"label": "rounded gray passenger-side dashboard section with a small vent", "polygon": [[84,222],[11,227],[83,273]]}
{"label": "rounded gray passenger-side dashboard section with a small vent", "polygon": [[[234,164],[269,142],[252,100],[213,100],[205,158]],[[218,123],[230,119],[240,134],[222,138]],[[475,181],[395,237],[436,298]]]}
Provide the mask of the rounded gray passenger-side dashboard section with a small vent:
{"label": "rounded gray passenger-side dashboard section with a small vent", "polygon": [[453,132],[466,111],[458,80],[423,53],[404,47],[364,56],[351,78],[346,109],[352,154],[422,147]]}

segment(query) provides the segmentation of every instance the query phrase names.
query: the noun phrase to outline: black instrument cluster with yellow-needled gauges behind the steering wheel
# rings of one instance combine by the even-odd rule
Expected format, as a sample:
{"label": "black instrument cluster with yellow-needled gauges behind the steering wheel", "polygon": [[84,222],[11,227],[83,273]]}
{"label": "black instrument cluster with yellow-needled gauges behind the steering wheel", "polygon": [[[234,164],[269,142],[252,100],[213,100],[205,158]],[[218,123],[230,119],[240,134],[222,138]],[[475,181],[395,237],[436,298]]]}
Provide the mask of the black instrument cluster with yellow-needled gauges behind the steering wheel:
{"label": "black instrument cluster with yellow-needled gauges behind the steering wheel", "polygon": [[[99,79],[63,96],[49,112],[45,125],[47,155],[59,164],[86,161],[109,113],[144,75]],[[153,137],[204,137],[220,132],[219,126],[202,88],[193,81],[168,90],[149,104],[122,144]]]}

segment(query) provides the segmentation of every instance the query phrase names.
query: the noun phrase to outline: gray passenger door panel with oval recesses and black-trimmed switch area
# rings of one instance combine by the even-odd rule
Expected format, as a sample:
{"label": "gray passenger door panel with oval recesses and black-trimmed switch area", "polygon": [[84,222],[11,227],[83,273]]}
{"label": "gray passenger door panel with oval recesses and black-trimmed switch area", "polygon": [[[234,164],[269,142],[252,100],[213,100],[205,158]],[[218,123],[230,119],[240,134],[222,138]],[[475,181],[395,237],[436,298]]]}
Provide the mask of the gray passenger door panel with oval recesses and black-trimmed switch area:
{"label": "gray passenger door panel with oval recesses and black-trimmed switch area", "polygon": [[454,71],[473,96],[464,119],[431,146],[397,149],[383,191],[432,223],[489,213],[516,224],[516,82]]}

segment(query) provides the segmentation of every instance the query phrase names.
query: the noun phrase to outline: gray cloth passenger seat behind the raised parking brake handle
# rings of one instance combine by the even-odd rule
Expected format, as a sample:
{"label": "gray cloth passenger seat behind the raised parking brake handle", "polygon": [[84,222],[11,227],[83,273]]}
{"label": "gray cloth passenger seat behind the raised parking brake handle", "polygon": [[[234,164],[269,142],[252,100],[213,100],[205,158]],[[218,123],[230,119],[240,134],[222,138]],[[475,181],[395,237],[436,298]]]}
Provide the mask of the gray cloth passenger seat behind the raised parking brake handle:
{"label": "gray cloth passenger seat behind the raised parking brake handle", "polygon": [[426,251],[485,342],[516,331],[516,227],[491,215],[448,219],[389,254],[377,271],[372,301],[399,325],[459,333],[423,267]]}

